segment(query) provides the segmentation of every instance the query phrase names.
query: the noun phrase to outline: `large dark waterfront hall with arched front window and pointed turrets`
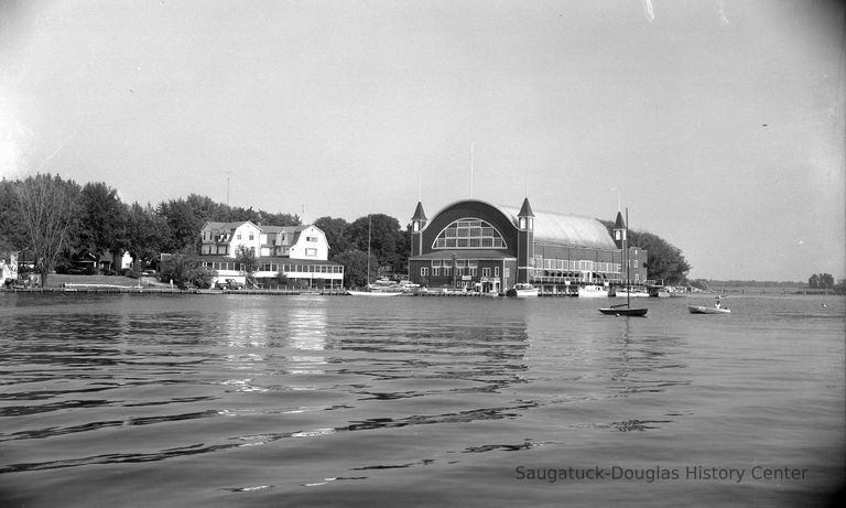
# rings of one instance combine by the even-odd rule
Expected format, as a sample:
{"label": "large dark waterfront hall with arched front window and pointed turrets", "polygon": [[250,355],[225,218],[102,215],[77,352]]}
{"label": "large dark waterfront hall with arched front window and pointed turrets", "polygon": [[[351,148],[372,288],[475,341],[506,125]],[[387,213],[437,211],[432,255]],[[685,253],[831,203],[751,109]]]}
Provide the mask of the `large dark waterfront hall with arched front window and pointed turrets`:
{"label": "large dark waterfront hall with arched front window and pointed turrets", "polygon": [[[417,203],[409,277],[429,287],[505,291],[530,282],[544,292],[625,284],[621,249],[597,219],[479,199],[453,203],[430,220]],[[646,281],[647,251],[631,248],[631,280]]]}

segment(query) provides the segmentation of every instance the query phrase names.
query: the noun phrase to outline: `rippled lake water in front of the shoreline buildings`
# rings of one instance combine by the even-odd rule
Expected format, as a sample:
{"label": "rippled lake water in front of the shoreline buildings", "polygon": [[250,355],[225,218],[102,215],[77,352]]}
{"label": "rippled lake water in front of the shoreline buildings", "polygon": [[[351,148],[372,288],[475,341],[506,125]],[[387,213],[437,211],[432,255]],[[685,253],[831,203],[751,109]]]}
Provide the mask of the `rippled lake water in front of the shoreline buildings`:
{"label": "rippled lake water in front of the shoreline buildings", "polygon": [[0,505],[825,506],[846,301],[724,302],[0,294]]}

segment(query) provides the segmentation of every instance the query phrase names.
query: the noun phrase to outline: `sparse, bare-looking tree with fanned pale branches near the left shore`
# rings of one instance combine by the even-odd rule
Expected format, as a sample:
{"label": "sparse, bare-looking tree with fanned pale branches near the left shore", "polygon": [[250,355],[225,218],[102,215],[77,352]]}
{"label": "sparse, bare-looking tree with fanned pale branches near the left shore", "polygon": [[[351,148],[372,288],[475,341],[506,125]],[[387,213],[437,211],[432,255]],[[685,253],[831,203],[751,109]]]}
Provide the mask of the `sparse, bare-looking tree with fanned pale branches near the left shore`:
{"label": "sparse, bare-looking tree with fanned pale branches near the left shore", "polygon": [[36,174],[19,182],[14,191],[19,218],[26,231],[25,247],[34,253],[35,271],[41,273],[43,287],[67,246],[68,231],[79,208],[79,185],[58,175]]}

